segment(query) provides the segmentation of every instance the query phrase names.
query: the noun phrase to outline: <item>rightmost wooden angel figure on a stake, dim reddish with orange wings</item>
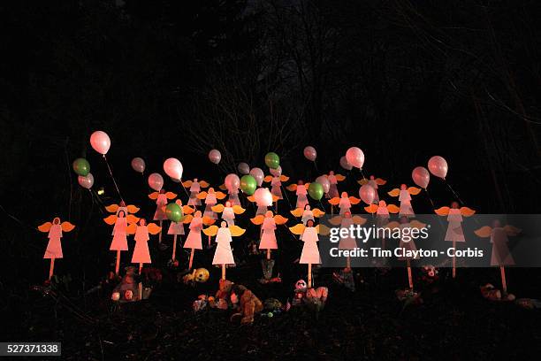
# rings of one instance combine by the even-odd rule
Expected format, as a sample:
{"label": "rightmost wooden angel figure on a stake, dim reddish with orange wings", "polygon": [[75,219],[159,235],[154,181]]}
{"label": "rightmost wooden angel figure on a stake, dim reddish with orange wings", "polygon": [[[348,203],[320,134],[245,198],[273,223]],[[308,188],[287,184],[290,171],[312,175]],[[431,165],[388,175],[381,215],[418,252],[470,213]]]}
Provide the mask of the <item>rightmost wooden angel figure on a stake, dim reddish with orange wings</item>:
{"label": "rightmost wooden angel figure on a stake, dim reddish with orange wings", "polygon": [[501,277],[501,289],[507,294],[506,265],[514,265],[514,259],[509,251],[507,243],[508,237],[513,237],[521,233],[521,229],[507,225],[501,226],[501,222],[496,219],[492,227],[484,226],[476,231],[475,234],[481,238],[491,237],[491,265],[499,266],[499,275]]}

